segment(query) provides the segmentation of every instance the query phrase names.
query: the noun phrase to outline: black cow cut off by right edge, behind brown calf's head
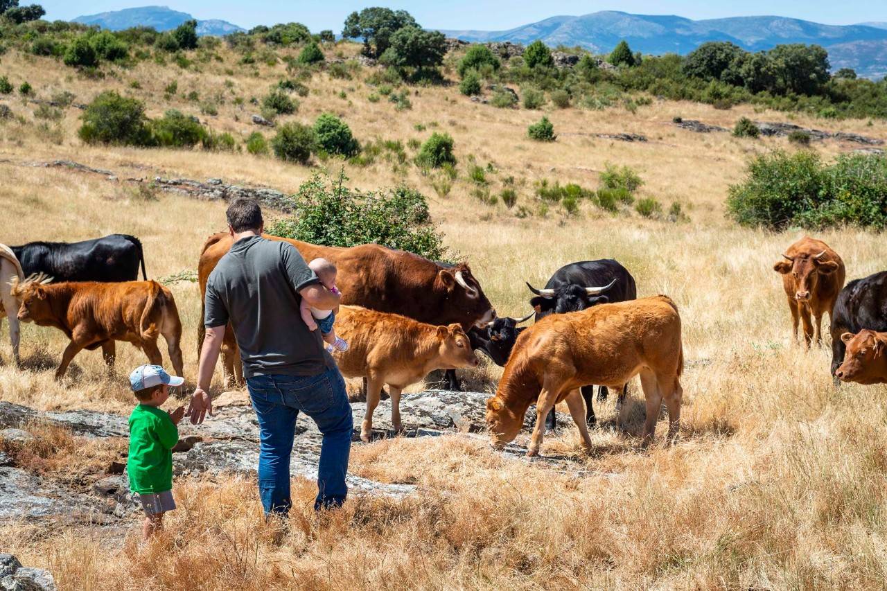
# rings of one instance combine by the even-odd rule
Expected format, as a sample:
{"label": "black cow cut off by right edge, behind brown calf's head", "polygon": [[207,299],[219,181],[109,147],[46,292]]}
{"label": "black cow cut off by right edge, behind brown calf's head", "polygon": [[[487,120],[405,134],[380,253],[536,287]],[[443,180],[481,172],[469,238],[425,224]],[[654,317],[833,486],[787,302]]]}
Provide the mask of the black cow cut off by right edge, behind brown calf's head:
{"label": "black cow cut off by right edge, behind brown calf's head", "polygon": [[832,375],[844,361],[847,349],[841,335],[855,335],[864,328],[887,332],[887,271],[852,280],[837,295],[831,316]]}

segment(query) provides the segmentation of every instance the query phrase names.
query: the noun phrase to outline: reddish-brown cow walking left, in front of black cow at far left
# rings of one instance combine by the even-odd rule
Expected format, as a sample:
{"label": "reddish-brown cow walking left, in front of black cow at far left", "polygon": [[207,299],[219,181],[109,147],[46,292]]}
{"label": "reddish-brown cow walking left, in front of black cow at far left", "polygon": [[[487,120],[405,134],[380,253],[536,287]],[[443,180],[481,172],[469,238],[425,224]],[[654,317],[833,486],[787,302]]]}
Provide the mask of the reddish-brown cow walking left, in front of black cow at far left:
{"label": "reddish-brown cow walking left, in front of black cow at far left", "polygon": [[176,374],[183,375],[182,324],[169,289],[156,281],[63,282],[43,285],[12,281],[19,298],[19,319],[41,327],[56,327],[71,339],[56,370],[60,380],[68,364],[82,349],[102,348],[108,368],[114,367],[114,341],[126,341],[145,351],[148,360],[161,365],[157,336],[163,335]]}

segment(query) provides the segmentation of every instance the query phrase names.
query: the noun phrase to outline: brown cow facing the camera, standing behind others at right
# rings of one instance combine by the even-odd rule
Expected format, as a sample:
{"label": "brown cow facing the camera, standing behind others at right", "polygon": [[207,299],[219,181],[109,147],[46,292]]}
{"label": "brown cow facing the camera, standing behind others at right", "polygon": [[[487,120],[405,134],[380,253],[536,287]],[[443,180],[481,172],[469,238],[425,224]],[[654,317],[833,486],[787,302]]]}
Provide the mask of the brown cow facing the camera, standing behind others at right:
{"label": "brown cow facing the camera, standing behind others at right", "polygon": [[782,257],[786,260],[774,264],[773,271],[781,273],[782,288],[789,300],[791,338],[797,342],[797,321],[801,319],[806,346],[813,339],[820,343],[822,315],[828,312],[830,324],[837,295],[844,287],[844,261],[828,244],[809,236],[797,240]]}

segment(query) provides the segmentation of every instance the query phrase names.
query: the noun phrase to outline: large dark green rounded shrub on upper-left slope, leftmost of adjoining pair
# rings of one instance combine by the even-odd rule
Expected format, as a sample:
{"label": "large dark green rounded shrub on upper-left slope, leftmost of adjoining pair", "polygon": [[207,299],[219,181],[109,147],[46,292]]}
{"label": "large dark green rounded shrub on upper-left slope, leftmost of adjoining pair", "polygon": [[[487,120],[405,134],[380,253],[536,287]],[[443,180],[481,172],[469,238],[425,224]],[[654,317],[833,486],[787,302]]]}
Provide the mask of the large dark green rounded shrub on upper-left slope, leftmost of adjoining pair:
{"label": "large dark green rounded shrub on upper-left slope, leftmost of adjoining pair", "polygon": [[145,105],[115,91],[105,91],[94,98],[82,120],[77,135],[87,144],[144,146],[150,142]]}

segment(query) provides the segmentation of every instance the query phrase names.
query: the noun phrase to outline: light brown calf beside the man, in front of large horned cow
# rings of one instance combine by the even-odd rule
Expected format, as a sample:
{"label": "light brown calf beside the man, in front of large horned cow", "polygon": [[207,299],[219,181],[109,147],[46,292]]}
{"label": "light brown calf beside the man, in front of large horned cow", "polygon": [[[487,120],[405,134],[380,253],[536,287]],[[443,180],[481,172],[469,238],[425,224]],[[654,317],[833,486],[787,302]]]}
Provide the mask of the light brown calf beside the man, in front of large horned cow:
{"label": "light brown calf beside the man, in front of large horned cow", "polygon": [[436,369],[478,365],[468,335],[456,323],[436,327],[397,314],[341,306],[335,330],[349,345],[348,351],[334,353],[341,374],[367,378],[366,414],[360,427],[364,441],[370,440],[373,411],[384,384],[391,395],[391,424],[399,431],[404,388]]}

